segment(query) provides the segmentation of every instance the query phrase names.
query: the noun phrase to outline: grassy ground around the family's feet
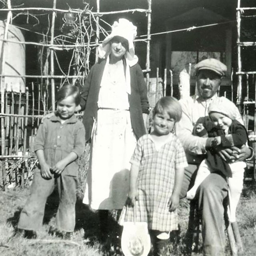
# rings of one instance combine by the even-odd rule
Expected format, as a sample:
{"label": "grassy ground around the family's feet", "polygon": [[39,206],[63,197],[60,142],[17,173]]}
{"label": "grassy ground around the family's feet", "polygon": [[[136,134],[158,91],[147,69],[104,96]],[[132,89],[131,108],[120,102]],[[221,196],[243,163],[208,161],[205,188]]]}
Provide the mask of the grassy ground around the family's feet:
{"label": "grassy ground around the family's feet", "polygon": [[[87,148],[88,150],[88,148]],[[88,151],[87,151],[88,153]],[[112,213],[110,236],[107,242],[100,242],[100,231],[97,212],[91,211],[82,204],[85,170],[88,168],[88,154],[80,159],[80,186],[76,203],[76,228],[72,240],[64,240],[55,230],[55,216],[58,207],[58,194],[53,193],[48,198],[43,229],[38,232],[36,240],[21,238],[16,235],[20,211],[29,195],[29,187],[14,188],[0,192],[0,255],[1,256],[121,256],[120,238],[116,237],[116,230],[120,228],[115,222],[116,212]],[[256,189],[246,185],[244,196],[241,198],[237,210],[238,225],[244,246],[243,256],[256,254]],[[185,256],[186,230],[188,226],[189,203],[181,200],[179,209],[180,230],[173,233],[169,254]],[[51,232],[49,232],[51,231]],[[202,238],[200,238],[202,244]],[[226,255],[230,255],[228,241]],[[202,256],[202,248],[193,256]]]}

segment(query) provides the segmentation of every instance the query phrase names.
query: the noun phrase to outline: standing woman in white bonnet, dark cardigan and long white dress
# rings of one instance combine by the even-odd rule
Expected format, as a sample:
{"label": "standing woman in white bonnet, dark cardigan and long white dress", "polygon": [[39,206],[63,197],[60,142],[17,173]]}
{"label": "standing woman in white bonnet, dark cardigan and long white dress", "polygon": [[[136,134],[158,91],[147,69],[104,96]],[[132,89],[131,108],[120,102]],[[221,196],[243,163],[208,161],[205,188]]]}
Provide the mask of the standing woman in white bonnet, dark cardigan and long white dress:
{"label": "standing woman in white bonnet, dark cardigan and long white dress", "polygon": [[99,210],[102,236],[108,230],[108,211],[125,204],[129,161],[136,141],[146,133],[149,104],[134,54],[136,30],[126,19],[114,22],[111,34],[98,48],[100,60],[92,66],[81,93],[86,141],[91,142],[83,202]]}

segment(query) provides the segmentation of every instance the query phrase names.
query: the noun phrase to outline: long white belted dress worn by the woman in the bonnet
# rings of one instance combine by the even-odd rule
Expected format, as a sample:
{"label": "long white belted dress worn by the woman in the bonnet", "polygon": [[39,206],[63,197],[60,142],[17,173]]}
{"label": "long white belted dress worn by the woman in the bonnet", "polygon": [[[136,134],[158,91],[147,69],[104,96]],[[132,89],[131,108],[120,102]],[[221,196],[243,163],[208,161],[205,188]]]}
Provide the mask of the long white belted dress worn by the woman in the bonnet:
{"label": "long white belted dress worn by the woman in the bonnet", "polygon": [[122,209],[136,146],[122,61],[106,63],[100,86],[83,202],[95,210]]}

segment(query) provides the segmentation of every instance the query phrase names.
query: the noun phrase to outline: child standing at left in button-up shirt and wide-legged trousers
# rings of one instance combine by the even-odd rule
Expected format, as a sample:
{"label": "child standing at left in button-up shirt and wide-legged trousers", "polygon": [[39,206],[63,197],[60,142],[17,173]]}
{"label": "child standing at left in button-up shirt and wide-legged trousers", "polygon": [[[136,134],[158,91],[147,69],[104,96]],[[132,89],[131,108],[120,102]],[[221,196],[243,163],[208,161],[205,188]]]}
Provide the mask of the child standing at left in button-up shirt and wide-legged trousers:
{"label": "child standing at left in button-up shirt and wide-legged trousers", "polygon": [[55,181],[60,198],[57,228],[68,239],[75,227],[76,160],[85,147],[84,125],[74,116],[80,103],[79,90],[76,86],[64,85],[56,94],[56,100],[56,113],[42,121],[35,138],[39,166],[34,171],[31,193],[18,223],[19,231],[27,238],[36,238],[36,231],[42,227],[46,200],[54,190]]}

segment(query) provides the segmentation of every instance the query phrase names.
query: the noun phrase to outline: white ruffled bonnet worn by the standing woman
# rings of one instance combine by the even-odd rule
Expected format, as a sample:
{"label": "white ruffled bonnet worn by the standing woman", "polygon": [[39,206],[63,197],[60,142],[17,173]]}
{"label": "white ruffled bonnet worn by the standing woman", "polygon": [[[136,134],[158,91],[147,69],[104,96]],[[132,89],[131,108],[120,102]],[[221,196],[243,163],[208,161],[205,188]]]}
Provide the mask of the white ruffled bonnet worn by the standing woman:
{"label": "white ruffled bonnet worn by the standing woman", "polygon": [[110,41],[114,36],[121,36],[128,41],[128,51],[126,52],[126,58],[130,61],[134,60],[135,51],[133,40],[137,35],[137,27],[129,20],[121,18],[114,22],[112,25],[112,32],[108,35],[98,47],[98,53],[100,58],[106,58],[110,52]]}

